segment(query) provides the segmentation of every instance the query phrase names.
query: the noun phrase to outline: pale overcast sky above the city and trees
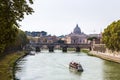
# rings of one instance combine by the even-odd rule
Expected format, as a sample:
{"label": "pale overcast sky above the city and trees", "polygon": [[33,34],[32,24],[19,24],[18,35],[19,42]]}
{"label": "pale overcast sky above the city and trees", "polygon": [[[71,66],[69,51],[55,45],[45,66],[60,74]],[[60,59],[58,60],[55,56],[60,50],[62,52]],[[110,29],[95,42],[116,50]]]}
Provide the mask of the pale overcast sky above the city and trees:
{"label": "pale overcast sky above the city and trees", "polygon": [[34,0],[32,7],[20,23],[24,31],[66,35],[78,24],[86,34],[100,33],[120,19],[120,0]]}

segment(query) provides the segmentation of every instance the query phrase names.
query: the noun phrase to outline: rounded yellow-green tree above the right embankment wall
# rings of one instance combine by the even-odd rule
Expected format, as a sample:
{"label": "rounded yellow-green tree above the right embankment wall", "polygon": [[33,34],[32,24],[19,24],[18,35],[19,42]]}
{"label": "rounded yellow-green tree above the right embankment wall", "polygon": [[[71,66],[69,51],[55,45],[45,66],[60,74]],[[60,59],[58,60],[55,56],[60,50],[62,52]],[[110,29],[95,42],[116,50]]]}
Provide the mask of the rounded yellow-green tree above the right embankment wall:
{"label": "rounded yellow-green tree above the right embankment wall", "polygon": [[112,51],[120,51],[120,20],[110,24],[102,34],[102,41]]}

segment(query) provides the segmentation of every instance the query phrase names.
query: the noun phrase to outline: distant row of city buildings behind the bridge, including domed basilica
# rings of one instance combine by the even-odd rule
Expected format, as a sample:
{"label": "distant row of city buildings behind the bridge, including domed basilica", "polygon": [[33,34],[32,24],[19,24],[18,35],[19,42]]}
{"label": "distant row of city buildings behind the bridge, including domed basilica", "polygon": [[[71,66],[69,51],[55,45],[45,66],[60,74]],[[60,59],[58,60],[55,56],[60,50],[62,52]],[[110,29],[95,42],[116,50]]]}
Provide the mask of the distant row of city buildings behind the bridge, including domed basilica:
{"label": "distant row of city buildings behind the bridge, including domed basilica", "polygon": [[[65,43],[65,44],[89,44],[89,43],[101,43],[102,34],[85,34],[81,31],[81,28],[76,24],[73,32],[56,36],[56,35],[48,35],[46,31],[25,31],[28,36],[30,43]],[[90,40],[90,38],[95,38],[94,41]]]}

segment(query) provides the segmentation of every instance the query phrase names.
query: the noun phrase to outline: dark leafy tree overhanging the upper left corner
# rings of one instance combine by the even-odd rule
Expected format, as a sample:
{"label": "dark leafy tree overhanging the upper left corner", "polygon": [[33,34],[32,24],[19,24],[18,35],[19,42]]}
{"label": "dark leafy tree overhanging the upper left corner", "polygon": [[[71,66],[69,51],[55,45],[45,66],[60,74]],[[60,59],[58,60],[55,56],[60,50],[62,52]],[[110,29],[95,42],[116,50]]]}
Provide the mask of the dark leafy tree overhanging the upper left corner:
{"label": "dark leafy tree overhanging the upper left corner", "polygon": [[[15,41],[18,34],[18,24],[24,15],[32,14],[29,6],[32,0],[0,0],[0,53]],[[16,27],[17,26],[17,27]]]}

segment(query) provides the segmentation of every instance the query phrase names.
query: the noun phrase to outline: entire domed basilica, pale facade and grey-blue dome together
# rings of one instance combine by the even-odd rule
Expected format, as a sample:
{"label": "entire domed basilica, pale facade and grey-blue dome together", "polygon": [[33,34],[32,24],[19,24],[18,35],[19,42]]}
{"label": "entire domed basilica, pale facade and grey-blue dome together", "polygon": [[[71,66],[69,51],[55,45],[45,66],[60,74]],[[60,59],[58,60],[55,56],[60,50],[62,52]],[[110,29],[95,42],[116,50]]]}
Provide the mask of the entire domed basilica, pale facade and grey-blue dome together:
{"label": "entire domed basilica, pale facade and grey-blue dome together", "polygon": [[74,28],[73,32],[66,36],[67,44],[84,44],[87,43],[87,36],[81,32],[78,24]]}

